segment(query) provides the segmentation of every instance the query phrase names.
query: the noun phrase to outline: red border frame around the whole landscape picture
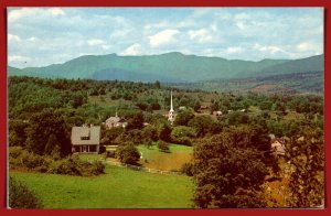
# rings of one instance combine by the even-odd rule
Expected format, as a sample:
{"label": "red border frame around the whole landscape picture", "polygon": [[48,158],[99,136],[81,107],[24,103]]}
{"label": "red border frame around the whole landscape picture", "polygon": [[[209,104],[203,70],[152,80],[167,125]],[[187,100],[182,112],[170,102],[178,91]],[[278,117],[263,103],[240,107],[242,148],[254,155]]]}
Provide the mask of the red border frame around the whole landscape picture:
{"label": "red border frame around the whole landscape picture", "polygon": [[[95,210],[17,210],[6,208],[6,183],[7,183],[7,7],[324,7],[325,8],[325,23],[324,23],[324,56],[325,56],[325,75],[324,75],[324,106],[325,106],[325,174],[327,174],[327,196],[325,209],[95,209]],[[331,75],[331,64],[329,56],[331,56],[331,46],[328,47],[330,41],[331,30],[331,1],[330,0],[0,0],[0,215],[19,215],[33,214],[34,216],[47,214],[55,216],[60,214],[72,215],[90,215],[90,214],[125,214],[125,215],[169,215],[169,214],[191,214],[195,215],[237,215],[248,214],[254,216],[263,215],[330,215],[330,150],[329,129],[328,126],[328,110],[330,109],[330,87],[327,85]],[[329,180],[329,182],[328,182]]]}

